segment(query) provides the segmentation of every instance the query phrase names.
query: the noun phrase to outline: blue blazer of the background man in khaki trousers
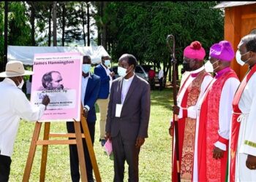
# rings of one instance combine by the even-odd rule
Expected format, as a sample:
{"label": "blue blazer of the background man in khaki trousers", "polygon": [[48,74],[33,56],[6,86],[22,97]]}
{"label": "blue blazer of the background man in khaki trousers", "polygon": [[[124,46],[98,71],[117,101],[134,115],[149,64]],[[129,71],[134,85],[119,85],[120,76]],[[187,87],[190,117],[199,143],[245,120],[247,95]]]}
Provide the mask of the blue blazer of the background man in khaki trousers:
{"label": "blue blazer of the background man in khaki trousers", "polygon": [[103,68],[102,64],[97,65],[94,68],[94,74],[100,77],[100,88],[99,88],[99,96],[100,99],[106,99],[109,95],[109,81],[110,77],[107,75],[105,68]]}

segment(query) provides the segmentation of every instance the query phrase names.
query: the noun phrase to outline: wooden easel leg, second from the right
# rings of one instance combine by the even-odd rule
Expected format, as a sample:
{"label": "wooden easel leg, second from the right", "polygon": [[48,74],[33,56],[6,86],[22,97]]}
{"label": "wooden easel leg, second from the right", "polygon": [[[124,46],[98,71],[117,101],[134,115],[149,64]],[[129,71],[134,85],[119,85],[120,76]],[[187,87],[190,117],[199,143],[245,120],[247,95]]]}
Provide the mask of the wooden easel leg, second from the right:
{"label": "wooden easel leg, second from the right", "polygon": [[79,159],[81,180],[87,182],[86,160],[83,153],[84,149],[83,149],[83,142],[82,142],[82,132],[80,129],[80,122],[74,122],[74,126],[75,126],[75,137],[76,137],[77,147],[78,147],[78,159]]}

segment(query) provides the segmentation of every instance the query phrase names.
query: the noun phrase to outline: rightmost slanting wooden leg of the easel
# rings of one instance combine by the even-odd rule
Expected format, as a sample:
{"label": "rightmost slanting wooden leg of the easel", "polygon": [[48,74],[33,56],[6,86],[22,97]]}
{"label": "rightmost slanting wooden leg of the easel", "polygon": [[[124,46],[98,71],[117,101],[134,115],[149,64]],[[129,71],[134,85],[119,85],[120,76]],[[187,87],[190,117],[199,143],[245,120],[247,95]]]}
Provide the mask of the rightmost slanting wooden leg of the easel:
{"label": "rightmost slanting wooden leg of the easel", "polygon": [[91,165],[92,165],[92,168],[94,169],[94,175],[95,175],[96,181],[101,182],[102,179],[100,178],[100,175],[99,175],[99,167],[94,154],[94,146],[92,145],[92,142],[91,142],[91,135],[89,133],[88,124],[83,115],[81,115],[81,122],[82,122],[84,137],[86,138],[86,145],[87,145],[90,159],[91,159]]}

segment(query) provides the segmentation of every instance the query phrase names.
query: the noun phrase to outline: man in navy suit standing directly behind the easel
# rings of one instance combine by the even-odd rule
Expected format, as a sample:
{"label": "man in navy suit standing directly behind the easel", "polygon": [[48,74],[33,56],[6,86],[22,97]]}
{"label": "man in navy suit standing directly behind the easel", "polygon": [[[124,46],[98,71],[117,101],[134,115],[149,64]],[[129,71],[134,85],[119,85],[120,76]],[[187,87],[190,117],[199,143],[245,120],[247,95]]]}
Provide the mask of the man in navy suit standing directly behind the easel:
{"label": "man in navy suit standing directly behind the easel", "polygon": [[[94,104],[96,103],[99,94],[100,79],[99,76],[91,74],[91,58],[89,56],[83,56],[83,78],[82,78],[82,104],[83,104],[83,114],[86,116],[86,121],[89,127],[89,132],[91,135],[91,142],[94,143],[95,134],[95,122],[96,122],[96,111]],[[81,130],[83,132],[82,124],[80,124]],[[75,132],[73,122],[67,122],[67,131]],[[86,160],[86,173],[87,180],[94,181],[92,174],[91,159],[89,156],[89,151],[87,149],[85,138],[83,141],[83,150]],[[79,173],[79,161],[78,161],[78,149],[76,145],[69,145],[69,157],[70,157],[70,171],[72,181],[80,180]]]}

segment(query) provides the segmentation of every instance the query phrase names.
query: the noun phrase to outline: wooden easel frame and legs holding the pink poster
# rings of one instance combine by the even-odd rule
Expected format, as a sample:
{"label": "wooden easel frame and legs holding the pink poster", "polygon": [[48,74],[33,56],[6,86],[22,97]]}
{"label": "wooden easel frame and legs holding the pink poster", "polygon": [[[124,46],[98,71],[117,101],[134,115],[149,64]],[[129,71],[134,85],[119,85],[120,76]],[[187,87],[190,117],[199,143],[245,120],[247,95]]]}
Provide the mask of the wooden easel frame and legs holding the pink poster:
{"label": "wooden easel frame and legs holding the pink poster", "polygon": [[[33,137],[31,140],[31,146],[29,149],[29,156],[26,161],[26,167],[23,175],[23,182],[29,181],[31,168],[34,160],[34,154],[37,149],[38,145],[42,145],[42,159],[41,159],[41,170],[40,170],[40,178],[39,181],[45,181],[45,170],[46,170],[46,162],[47,162],[47,155],[48,155],[48,145],[57,145],[57,144],[76,144],[78,147],[78,159],[79,159],[79,167],[80,167],[80,175],[81,180],[87,182],[87,175],[86,175],[86,162],[84,159],[83,154],[83,143],[82,138],[86,138],[86,145],[88,147],[91,165],[94,169],[94,175],[97,182],[101,182],[101,178],[99,175],[99,168],[97,165],[96,157],[94,154],[94,148],[91,142],[91,136],[89,134],[89,128],[86,122],[86,118],[83,116],[83,107],[81,106],[80,109],[80,118],[81,124],[83,127],[83,133],[80,130],[80,122],[75,121],[74,119],[74,126],[75,126],[75,133],[50,133],[50,122],[45,122],[45,131],[43,140],[39,139],[39,134],[42,126],[42,122],[36,122],[36,126],[34,128]],[[49,140],[50,137],[67,137],[67,138],[75,138],[72,140]]]}

